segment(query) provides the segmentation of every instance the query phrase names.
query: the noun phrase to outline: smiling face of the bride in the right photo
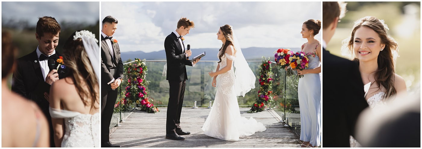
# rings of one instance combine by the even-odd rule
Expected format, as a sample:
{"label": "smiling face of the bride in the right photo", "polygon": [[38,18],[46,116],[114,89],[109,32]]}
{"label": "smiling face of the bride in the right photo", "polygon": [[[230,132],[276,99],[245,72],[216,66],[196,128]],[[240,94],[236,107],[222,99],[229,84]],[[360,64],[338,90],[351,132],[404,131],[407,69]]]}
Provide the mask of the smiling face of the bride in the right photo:
{"label": "smiling face of the bride in the right photo", "polygon": [[362,26],[356,29],[353,40],[353,51],[356,58],[362,62],[377,60],[379,52],[384,50],[379,35],[371,28]]}

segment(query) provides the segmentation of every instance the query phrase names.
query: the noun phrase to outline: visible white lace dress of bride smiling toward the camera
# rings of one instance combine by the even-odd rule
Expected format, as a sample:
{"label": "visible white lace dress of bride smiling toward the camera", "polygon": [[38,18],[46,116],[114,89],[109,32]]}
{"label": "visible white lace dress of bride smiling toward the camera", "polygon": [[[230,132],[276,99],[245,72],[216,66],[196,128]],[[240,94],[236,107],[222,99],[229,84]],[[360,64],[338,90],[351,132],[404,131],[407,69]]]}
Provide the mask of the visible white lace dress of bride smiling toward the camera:
{"label": "visible white lace dress of bride smiling toward the camera", "polygon": [[[365,96],[368,93],[368,89],[369,86],[371,86],[371,82],[369,82],[368,84],[366,84],[365,86],[368,87],[364,87],[365,88]],[[374,94],[372,97],[368,98],[368,100],[366,102],[368,102],[369,108],[373,109],[374,107],[376,107],[377,105],[384,105],[384,97],[385,93],[383,91],[380,91],[376,94]],[[362,147],[359,142],[357,142],[353,136],[350,136],[350,147]]]}

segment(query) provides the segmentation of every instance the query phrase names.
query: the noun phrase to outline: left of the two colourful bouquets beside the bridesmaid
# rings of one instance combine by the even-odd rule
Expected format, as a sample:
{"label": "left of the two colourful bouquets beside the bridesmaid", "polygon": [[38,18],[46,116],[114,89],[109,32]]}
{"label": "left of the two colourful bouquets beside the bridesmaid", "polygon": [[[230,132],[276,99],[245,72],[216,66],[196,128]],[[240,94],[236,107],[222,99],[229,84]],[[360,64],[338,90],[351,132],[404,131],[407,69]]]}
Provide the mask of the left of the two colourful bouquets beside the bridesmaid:
{"label": "left of the two colourful bouquets beside the bridesmaid", "polygon": [[278,49],[274,53],[275,53],[274,58],[277,65],[279,65],[281,68],[286,70],[287,76],[292,76],[294,73],[292,69],[289,69],[290,62],[291,62],[289,58],[292,55],[295,55],[295,53],[292,52],[290,49]]}

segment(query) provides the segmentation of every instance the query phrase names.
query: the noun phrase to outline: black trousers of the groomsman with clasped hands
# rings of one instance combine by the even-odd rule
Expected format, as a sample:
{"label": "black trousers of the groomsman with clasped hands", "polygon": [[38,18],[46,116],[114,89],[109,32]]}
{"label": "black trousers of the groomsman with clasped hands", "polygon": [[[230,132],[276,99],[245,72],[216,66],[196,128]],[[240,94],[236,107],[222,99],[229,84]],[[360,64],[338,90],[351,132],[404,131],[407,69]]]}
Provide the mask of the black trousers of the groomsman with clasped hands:
{"label": "black trousers of the groomsman with clasped hands", "polygon": [[105,83],[101,86],[101,142],[108,142],[114,104],[119,92],[117,89],[112,90],[110,84]]}

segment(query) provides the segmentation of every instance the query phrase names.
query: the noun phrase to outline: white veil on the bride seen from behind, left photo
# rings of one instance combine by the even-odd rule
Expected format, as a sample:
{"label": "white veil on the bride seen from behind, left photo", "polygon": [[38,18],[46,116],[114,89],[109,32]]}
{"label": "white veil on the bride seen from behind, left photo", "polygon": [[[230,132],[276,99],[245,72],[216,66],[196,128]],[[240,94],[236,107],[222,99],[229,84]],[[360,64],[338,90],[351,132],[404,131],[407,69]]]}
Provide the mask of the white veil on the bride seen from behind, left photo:
{"label": "white veil on the bride seen from behind, left photo", "polygon": [[76,31],[73,40],[78,38],[82,39],[84,44],[85,52],[87,52],[89,61],[91,62],[92,68],[94,69],[95,76],[97,76],[98,84],[100,84],[100,48],[98,46],[98,40],[95,38],[95,34],[92,34],[91,31],[82,30]]}

